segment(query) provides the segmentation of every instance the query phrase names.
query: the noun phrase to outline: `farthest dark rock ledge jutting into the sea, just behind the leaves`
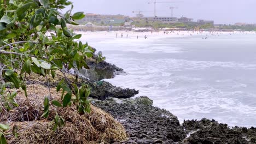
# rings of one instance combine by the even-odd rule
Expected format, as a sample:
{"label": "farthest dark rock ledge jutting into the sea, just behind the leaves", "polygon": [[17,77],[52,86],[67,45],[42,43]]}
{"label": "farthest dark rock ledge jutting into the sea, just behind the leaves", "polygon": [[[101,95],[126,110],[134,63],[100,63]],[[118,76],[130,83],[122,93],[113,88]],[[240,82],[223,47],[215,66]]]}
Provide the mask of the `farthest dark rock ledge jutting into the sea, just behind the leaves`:
{"label": "farthest dark rock ledge jutting into the sea, just behind the leaves", "polygon": [[124,73],[123,69],[118,68],[114,64],[107,63],[106,61],[97,63],[95,59],[89,58],[87,64],[90,69],[80,69],[79,73],[94,81],[112,79],[114,75]]}

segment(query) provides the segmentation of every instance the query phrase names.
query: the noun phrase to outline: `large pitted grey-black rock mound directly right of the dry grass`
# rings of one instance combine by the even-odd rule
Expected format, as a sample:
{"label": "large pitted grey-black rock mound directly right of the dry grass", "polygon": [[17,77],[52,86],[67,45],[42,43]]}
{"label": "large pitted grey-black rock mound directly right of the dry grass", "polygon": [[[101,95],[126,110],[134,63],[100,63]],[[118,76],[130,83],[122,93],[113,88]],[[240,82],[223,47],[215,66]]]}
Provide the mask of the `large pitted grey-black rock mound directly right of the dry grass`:
{"label": "large pitted grey-black rock mound directly right of the dry grass", "polygon": [[185,132],[172,113],[152,106],[147,97],[94,101],[93,105],[109,112],[124,125],[130,141],[124,143],[174,143],[185,138]]}

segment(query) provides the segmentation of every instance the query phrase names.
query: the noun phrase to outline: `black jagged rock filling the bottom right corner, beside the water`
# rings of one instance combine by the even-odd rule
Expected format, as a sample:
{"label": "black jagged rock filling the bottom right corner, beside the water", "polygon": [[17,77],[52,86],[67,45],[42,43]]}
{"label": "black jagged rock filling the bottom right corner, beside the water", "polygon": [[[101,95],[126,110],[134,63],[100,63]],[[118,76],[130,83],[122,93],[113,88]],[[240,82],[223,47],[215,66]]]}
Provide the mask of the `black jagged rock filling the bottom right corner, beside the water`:
{"label": "black jagged rock filling the bottom right corner, beside the water", "polygon": [[227,124],[203,118],[184,121],[183,128],[190,136],[181,143],[255,143],[255,128],[229,128]]}

